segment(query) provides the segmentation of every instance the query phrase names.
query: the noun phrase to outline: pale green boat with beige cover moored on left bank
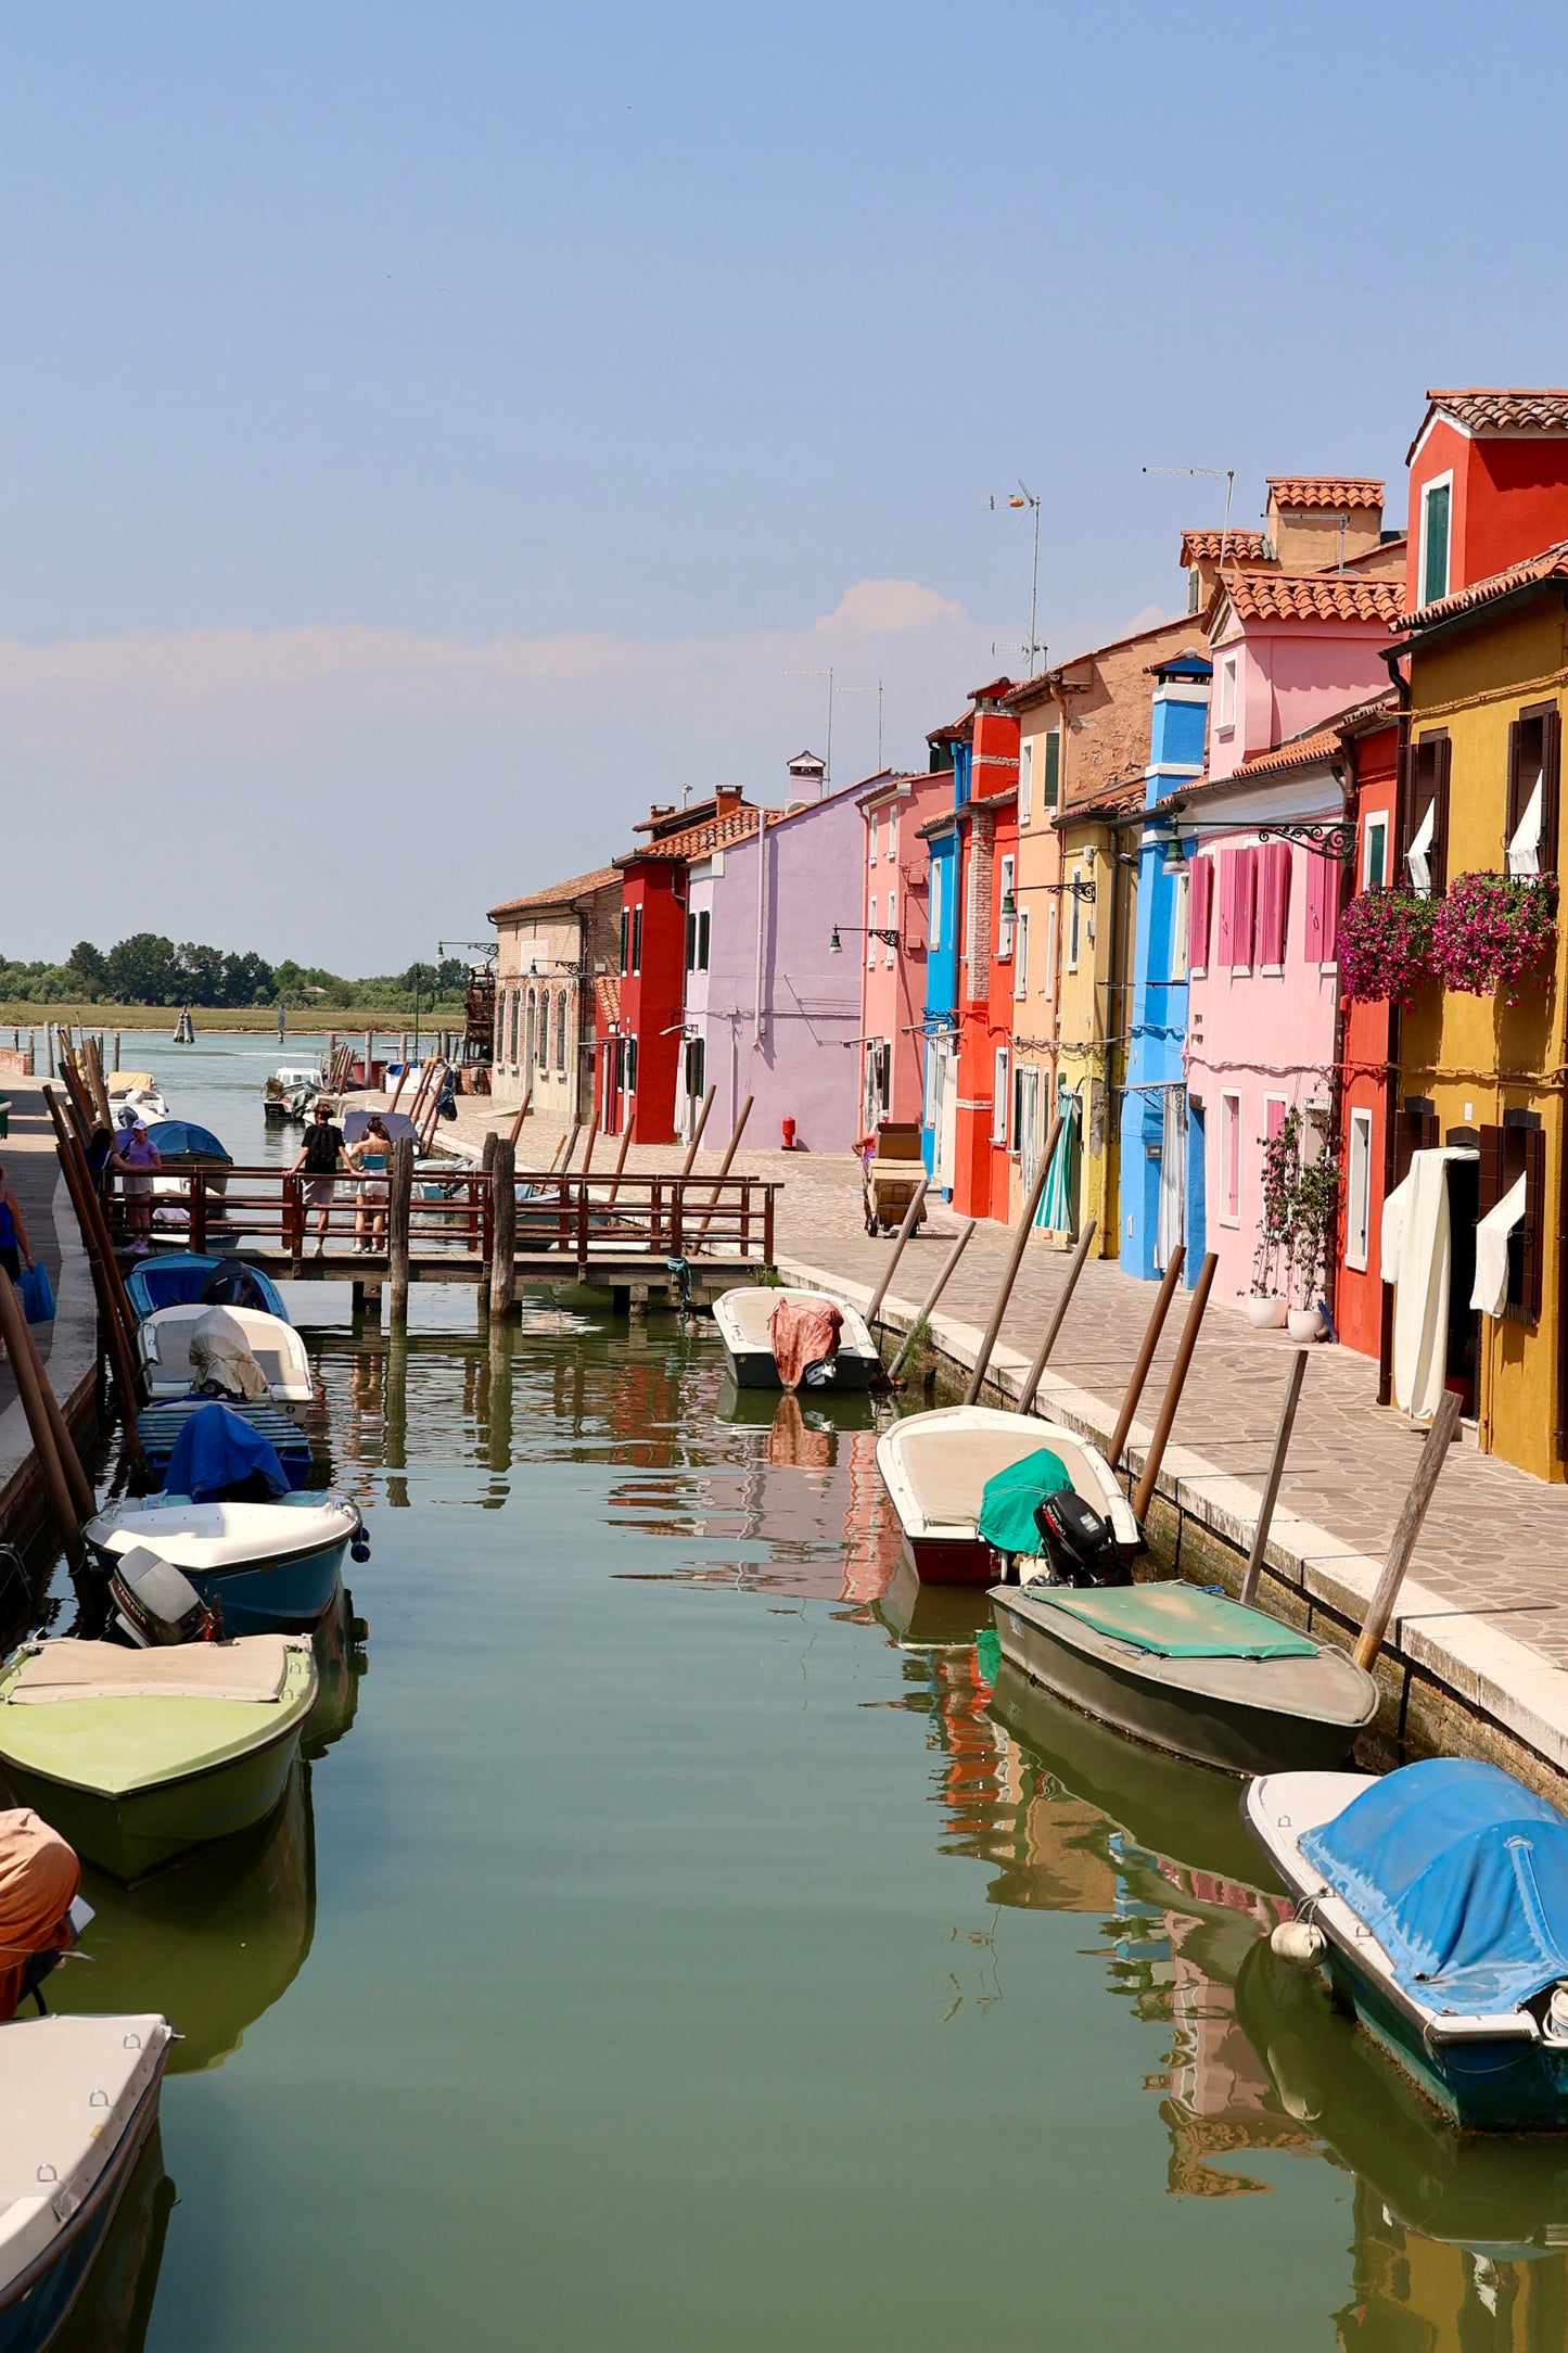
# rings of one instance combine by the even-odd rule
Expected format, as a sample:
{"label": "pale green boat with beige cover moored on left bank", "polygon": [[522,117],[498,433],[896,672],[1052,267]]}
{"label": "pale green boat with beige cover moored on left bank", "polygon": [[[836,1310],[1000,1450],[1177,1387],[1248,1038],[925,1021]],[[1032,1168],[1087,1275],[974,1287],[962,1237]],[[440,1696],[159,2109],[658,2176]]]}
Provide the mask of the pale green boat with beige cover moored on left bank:
{"label": "pale green boat with beige cover moored on left bank", "polygon": [[289,1635],[26,1642],[0,1671],[0,1769],[78,1854],[136,1880],[273,1812],[315,1689]]}

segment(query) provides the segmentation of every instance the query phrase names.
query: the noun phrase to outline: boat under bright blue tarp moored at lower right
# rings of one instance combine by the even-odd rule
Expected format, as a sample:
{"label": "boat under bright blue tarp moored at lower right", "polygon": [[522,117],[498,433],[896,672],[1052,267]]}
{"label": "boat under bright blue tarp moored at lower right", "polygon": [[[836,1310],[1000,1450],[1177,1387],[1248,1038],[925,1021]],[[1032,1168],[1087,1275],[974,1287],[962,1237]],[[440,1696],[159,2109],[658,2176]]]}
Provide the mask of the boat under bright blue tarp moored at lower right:
{"label": "boat under bright blue tarp moored at lower right", "polygon": [[1274,1948],[1469,2132],[1568,2132],[1568,1817],[1497,1765],[1253,1781]]}

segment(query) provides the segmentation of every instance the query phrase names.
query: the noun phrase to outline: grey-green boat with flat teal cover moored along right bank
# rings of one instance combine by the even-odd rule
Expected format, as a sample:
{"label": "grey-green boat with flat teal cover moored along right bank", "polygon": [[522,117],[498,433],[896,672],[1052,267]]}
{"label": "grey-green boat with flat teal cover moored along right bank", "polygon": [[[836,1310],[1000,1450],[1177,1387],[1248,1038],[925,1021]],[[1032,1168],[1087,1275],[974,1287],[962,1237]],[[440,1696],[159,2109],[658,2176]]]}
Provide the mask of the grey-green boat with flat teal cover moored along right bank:
{"label": "grey-green boat with flat teal cover moored along right bank", "polygon": [[1001,1654],[1133,1739],[1220,1772],[1333,1767],[1378,1713],[1342,1649],[1262,1609],[1159,1581],[992,1586]]}

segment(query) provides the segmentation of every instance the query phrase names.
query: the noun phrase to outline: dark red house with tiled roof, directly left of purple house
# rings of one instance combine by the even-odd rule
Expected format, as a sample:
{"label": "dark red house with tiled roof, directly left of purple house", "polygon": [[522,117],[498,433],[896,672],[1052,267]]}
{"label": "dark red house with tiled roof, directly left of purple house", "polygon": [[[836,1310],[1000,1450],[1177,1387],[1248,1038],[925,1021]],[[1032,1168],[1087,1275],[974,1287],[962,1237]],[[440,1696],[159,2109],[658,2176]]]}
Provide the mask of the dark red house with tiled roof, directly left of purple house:
{"label": "dark red house with tiled roof, directly left of purple house", "polygon": [[611,859],[621,871],[621,972],[599,981],[597,1113],[602,1134],[632,1122],[632,1144],[675,1144],[686,1002],[686,868],[757,831],[738,786],[689,809],[654,807],[632,833],[642,849]]}

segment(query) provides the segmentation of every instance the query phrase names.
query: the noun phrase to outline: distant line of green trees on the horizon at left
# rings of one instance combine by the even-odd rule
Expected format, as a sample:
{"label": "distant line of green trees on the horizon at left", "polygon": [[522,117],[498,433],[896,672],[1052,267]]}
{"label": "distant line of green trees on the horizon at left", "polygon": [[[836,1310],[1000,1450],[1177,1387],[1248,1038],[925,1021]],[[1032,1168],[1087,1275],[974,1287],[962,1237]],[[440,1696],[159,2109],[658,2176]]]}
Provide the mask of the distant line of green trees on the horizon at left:
{"label": "distant line of green trees on the horizon at left", "polygon": [[228,948],[205,948],[195,939],[176,946],[158,932],[132,932],[113,948],[94,948],[89,939],[78,939],[63,965],[21,965],[0,953],[5,1005],[254,1007],[277,1005],[282,998],[296,1009],[374,1005],[411,1014],[418,986],[425,1012],[458,1012],[465,979],[468,967],[456,955],[350,981],[341,972],[296,965],[292,958],[268,965],[254,948],[235,955]]}

